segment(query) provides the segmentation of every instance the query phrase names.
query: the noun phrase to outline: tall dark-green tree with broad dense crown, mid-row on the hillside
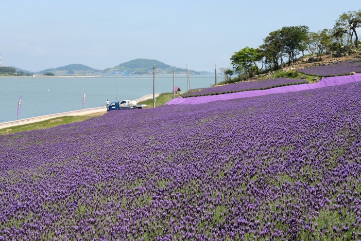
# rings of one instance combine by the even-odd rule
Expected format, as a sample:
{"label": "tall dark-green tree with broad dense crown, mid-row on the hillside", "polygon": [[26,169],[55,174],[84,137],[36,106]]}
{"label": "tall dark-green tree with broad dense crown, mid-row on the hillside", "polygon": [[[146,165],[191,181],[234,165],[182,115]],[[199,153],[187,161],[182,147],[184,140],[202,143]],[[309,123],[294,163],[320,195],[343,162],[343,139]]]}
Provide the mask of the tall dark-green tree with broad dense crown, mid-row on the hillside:
{"label": "tall dark-green tree with broad dense crown, mid-row on the hillside", "polygon": [[300,52],[306,50],[309,27],[292,26],[283,27],[280,31],[284,52],[288,55],[288,66],[295,62],[295,58]]}

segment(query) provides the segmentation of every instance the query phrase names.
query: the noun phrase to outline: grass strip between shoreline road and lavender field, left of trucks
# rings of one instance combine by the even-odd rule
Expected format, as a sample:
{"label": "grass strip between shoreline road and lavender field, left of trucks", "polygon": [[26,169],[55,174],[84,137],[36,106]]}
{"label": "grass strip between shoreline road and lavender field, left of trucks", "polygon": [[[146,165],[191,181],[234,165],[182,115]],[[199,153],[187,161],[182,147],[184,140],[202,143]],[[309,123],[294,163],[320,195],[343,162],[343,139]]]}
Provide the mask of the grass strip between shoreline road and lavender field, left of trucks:
{"label": "grass strip between shoreline road and lavender field, left of trucks", "polygon": [[57,127],[57,126],[61,126],[61,125],[69,124],[69,123],[84,121],[91,117],[99,116],[102,114],[103,113],[56,117],[56,118],[52,118],[49,120],[34,122],[34,123],[30,123],[30,124],[3,128],[3,129],[0,129],[0,135],[6,135],[6,134],[17,133],[17,132],[28,131],[28,130],[41,130],[41,129]]}

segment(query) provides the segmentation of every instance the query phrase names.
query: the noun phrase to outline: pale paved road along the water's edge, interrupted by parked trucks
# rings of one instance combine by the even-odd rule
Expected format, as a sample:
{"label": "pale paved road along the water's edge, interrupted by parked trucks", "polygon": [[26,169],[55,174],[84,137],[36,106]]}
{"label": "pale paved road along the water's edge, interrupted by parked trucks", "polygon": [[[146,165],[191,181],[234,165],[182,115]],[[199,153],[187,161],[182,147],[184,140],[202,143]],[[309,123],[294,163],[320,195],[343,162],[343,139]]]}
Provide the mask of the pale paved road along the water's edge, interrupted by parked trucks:
{"label": "pale paved road along the water's edge, interrupted by parked trucks", "polygon": [[[158,97],[158,96],[159,96],[159,94],[155,94],[155,97]],[[141,101],[148,100],[148,99],[153,99],[153,94],[147,94],[139,99],[136,99],[135,101],[141,102]],[[69,115],[71,115],[71,116],[86,115],[86,114],[101,113],[101,112],[104,112],[104,113],[106,112],[105,106],[83,109],[83,110],[79,110],[79,111],[68,111],[68,112],[57,113],[57,114],[42,115],[42,116],[21,119],[21,120],[16,120],[16,121],[3,122],[3,123],[0,123],[0,129],[30,124],[30,123],[34,123],[34,122],[43,121],[43,120],[49,120],[49,119],[52,119],[55,117],[69,116]]]}

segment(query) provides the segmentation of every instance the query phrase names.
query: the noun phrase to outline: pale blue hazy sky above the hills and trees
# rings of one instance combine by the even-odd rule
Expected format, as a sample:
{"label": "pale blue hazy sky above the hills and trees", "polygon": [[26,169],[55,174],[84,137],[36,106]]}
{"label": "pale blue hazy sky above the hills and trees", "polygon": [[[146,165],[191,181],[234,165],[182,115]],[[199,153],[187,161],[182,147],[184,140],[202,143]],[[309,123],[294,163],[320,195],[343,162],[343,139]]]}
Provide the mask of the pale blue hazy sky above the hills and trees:
{"label": "pale blue hazy sky above the hills and trees", "polygon": [[[284,26],[333,27],[360,0],[3,0],[3,66],[106,69],[136,58],[195,71],[231,67]],[[360,33],[361,35],[361,33]]]}

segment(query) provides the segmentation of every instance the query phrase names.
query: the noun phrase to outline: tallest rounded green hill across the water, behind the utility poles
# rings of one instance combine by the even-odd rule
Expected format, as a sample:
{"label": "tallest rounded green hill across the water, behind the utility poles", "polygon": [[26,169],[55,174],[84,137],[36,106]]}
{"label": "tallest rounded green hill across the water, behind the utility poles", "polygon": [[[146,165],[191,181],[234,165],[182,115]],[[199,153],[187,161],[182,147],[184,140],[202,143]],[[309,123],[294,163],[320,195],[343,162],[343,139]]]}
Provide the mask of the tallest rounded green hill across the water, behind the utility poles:
{"label": "tallest rounded green hill across the water, behind the utility poles", "polygon": [[[173,69],[176,74],[186,74],[187,69],[176,68],[165,64],[155,59],[137,58],[125,63],[121,63],[113,68],[104,70],[107,74],[151,74],[153,73],[154,65],[156,73],[172,74]],[[189,70],[189,74],[199,74],[196,71]]]}

